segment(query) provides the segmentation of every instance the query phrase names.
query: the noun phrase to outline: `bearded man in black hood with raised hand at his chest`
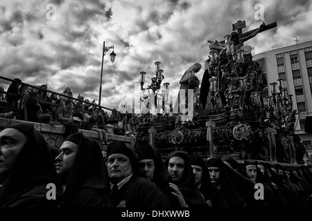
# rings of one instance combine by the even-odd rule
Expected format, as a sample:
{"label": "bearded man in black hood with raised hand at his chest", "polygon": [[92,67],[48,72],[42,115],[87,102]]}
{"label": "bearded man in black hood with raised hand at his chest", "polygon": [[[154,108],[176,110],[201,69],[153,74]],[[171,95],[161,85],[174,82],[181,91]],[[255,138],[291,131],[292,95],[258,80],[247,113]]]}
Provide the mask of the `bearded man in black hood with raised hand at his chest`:
{"label": "bearded man in black hood with raised hand at his chest", "polygon": [[[175,189],[174,195],[179,195],[188,207],[207,207],[205,199],[196,185],[193,170],[189,162],[189,155],[185,151],[173,151],[169,153],[164,165],[170,173]],[[185,206],[185,205],[183,205]]]}

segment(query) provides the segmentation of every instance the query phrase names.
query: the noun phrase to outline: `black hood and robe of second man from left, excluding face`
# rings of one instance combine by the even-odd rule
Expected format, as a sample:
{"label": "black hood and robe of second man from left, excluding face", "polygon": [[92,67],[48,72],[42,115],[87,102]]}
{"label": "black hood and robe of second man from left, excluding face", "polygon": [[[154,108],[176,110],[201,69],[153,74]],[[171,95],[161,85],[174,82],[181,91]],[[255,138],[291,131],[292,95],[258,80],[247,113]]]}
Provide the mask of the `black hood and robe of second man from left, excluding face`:
{"label": "black hood and robe of second man from left, excluding face", "polygon": [[107,167],[98,143],[82,132],[69,135],[65,141],[78,148],[67,179],[62,179],[66,187],[61,207],[112,207]]}

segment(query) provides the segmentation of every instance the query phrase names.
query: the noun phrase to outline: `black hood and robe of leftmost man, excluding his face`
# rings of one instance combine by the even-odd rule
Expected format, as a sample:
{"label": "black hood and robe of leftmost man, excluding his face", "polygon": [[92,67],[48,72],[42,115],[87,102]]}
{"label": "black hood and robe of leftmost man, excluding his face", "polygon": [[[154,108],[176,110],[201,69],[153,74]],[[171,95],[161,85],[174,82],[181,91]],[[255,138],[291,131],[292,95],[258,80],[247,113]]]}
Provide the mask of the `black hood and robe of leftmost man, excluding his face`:
{"label": "black hood and robe of leftmost man, excluding his face", "polygon": [[33,124],[8,125],[1,131],[6,128],[23,133],[27,141],[2,184],[0,207],[58,207],[62,187],[44,137]]}

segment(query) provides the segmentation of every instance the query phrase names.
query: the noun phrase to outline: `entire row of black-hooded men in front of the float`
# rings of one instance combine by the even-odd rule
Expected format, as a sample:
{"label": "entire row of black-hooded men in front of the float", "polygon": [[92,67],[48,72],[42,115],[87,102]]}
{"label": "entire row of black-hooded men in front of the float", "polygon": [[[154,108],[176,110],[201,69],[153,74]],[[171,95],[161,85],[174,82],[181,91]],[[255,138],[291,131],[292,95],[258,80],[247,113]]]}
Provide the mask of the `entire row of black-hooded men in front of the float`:
{"label": "entire row of black-hooded men in front of the float", "polygon": [[82,132],[50,146],[34,124],[0,131],[0,207],[311,207],[312,167],[204,159]]}

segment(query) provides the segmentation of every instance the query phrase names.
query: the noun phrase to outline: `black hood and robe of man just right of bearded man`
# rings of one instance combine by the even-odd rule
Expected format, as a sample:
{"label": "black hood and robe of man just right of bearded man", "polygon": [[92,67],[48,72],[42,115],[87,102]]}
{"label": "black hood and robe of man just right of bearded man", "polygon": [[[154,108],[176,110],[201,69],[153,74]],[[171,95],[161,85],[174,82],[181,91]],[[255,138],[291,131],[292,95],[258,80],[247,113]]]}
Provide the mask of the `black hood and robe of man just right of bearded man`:
{"label": "black hood and robe of man just right of bearded man", "polygon": [[200,185],[200,193],[205,198],[208,206],[211,207],[228,207],[228,204],[222,195],[221,191],[211,184],[210,175],[205,161],[200,155],[190,155],[189,160],[191,165],[200,166],[202,168],[202,183]]}

